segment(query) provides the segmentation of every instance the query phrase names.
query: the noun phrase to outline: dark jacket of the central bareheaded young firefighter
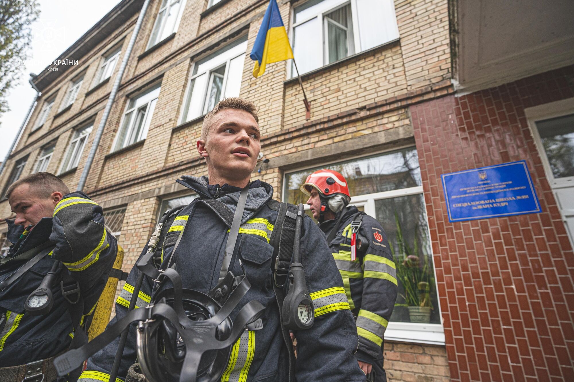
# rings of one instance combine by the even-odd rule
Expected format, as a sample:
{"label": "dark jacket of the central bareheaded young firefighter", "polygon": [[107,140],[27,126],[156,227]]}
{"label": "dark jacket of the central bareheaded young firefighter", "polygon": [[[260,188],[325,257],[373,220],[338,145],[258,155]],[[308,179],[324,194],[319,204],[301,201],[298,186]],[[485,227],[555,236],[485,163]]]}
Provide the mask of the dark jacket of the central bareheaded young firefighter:
{"label": "dark jacket of the central bareheaded young firefighter", "polygon": [[[181,276],[184,288],[207,293],[218,283],[219,272],[228,236],[228,226],[216,215],[215,209],[200,199],[215,198],[226,204],[232,212],[239,198],[240,189],[224,185],[208,185],[207,177],[184,176],[180,184],[194,190],[199,197],[181,210],[171,224],[169,247],[162,247],[162,268],[174,256],[173,262]],[[235,319],[238,311],[249,301],[256,299],[265,307],[263,328],[245,331],[232,347],[231,356],[223,373],[222,381],[286,381],[289,375],[289,351],[282,336],[280,313],[272,287],[271,262],[273,247],[270,236],[277,219],[277,211],[269,208],[272,186],[251,182],[238,246],[231,259],[229,270],[234,275],[245,268],[251,289],[232,311]],[[180,235],[182,223],[187,221],[177,250],[172,254],[173,241],[169,235]],[[278,228],[279,229],[279,228]],[[307,286],[315,306],[315,324],[311,329],[296,332],[298,350],[294,367],[298,381],[364,381],[364,373],[354,357],[358,338],[343,282],[337,271],[327,241],[311,219],[304,219],[301,229],[301,257]],[[161,243],[161,240],[160,240]],[[145,250],[142,254],[145,253]],[[116,317],[125,316],[134,292],[139,271],[134,267],[116,301]],[[158,291],[145,276],[139,291],[135,309],[145,307]],[[290,339],[286,339],[289,341]],[[107,380],[114,362],[119,338],[88,360],[80,382]],[[119,367],[118,377],[123,380],[127,369],[135,362],[135,324],[131,325],[126,348]]]}

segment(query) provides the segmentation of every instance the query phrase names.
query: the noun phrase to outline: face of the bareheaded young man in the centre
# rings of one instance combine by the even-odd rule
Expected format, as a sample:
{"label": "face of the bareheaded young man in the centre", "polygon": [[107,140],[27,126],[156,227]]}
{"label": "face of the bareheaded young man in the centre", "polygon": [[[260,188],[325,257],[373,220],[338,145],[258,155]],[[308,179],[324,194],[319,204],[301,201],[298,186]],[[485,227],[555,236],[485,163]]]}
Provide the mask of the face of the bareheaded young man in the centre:
{"label": "face of the bareheaded young man in the centre", "polygon": [[200,155],[208,158],[210,178],[212,175],[231,181],[249,178],[261,151],[260,137],[259,126],[248,112],[236,109],[218,112],[207,139],[197,141]]}

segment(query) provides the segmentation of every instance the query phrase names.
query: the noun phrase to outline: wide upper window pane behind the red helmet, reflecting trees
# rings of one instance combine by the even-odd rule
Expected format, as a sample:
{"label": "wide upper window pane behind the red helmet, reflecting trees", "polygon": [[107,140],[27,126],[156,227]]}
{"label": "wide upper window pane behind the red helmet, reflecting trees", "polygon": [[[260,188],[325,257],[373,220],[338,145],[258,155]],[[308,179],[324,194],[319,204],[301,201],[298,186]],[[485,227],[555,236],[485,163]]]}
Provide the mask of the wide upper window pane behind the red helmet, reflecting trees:
{"label": "wide upper window pane behind the red helmet, reflecting trees", "polygon": [[331,169],[343,174],[351,196],[397,190],[422,185],[417,150],[414,147],[370,158],[334,163],[286,175],[285,200],[305,203],[307,196],[300,190],[313,171]]}

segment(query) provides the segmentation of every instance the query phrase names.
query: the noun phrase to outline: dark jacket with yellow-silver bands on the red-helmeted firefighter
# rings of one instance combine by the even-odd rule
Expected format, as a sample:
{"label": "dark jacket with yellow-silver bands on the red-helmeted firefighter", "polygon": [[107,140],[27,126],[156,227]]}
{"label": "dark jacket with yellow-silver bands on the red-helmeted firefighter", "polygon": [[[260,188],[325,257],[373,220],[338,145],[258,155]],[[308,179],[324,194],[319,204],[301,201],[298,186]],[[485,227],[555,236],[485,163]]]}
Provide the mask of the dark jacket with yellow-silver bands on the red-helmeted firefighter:
{"label": "dark jacket with yellow-silver bands on the red-helmeted firefighter", "polygon": [[[382,359],[385,329],[397,299],[397,272],[385,231],[369,215],[363,215],[359,228],[360,235],[369,241],[369,246],[351,261],[351,221],[356,219],[358,213],[355,206],[347,208],[329,247],[343,277],[349,305],[356,315],[359,334],[356,357],[373,364],[374,360]],[[335,221],[320,224],[325,235],[335,227]]]}

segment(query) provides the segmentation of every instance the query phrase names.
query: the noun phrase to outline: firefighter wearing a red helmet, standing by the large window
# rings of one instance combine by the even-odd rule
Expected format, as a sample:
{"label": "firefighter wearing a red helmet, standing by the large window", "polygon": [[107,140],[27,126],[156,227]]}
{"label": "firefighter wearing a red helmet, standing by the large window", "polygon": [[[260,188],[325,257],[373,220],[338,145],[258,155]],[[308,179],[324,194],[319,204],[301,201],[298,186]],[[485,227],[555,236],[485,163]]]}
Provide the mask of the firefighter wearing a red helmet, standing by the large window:
{"label": "firefighter wearing a red helmet, standing by the large window", "polygon": [[315,171],[301,191],[309,196],[307,204],[343,277],[356,317],[359,366],[367,380],[386,381],[383,335],[397,298],[397,275],[385,231],[373,217],[347,206],[351,194],[337,171]]}

